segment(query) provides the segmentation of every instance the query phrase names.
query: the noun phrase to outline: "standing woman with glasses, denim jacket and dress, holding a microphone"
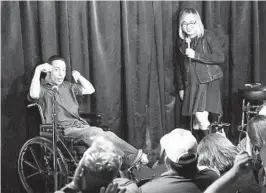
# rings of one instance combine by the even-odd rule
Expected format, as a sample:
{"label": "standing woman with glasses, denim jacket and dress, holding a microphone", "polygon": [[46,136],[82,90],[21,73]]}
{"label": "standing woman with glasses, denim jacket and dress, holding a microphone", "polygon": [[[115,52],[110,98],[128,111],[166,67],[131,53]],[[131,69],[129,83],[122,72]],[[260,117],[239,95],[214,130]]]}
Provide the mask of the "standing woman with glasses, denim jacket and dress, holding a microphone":
{"label": "standing woman with glasses, denim jacket and dress, holding a microphone", "polygon": [[222,113],[223,72],[219,65],[225,62],[224,52],[214,32],[204,29],[195,9],[185,8],[180,13],[179,37],[183,57],[177,68],[177,86],[182,115],[195,115],[193,129],[205,136],[209,133],[209,113]]}

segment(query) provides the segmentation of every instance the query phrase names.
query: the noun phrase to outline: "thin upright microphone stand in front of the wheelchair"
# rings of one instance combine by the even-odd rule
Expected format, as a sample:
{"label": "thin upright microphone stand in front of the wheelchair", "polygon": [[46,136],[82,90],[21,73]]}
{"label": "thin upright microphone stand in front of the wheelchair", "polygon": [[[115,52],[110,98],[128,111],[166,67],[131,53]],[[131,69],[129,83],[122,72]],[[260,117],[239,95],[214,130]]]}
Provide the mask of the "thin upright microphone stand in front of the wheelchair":
{"label": "thin upright microphone stand in front of the wheelchair", "polygon": [[55,113],[55,90],[56,88],[52,88],[53,90],[53,109],[52,109],[52,120],[53,120],[53,166],[54,166],[54,191],[57,191],[58,180],[57,180],[57,132],[56,132],[56,113]]}

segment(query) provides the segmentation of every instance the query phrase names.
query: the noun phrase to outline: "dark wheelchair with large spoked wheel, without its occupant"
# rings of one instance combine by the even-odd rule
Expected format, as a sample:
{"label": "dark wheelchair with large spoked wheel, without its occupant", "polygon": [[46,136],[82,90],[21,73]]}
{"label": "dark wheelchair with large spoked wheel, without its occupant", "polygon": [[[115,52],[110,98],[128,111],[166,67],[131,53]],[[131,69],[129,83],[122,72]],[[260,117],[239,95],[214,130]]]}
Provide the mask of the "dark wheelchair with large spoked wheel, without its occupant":
{"label": "dark wheelchair with large spoked wheel, without its occupant", "polygon": [[[63,128],[56,126],[56,151],[53,149],[53,125],[46,124],[42,108],[33,103],[28,108],[37,107],[41,124],[39,136],[29,139],[22,146],[18,158],[18,174],[25,190],[29,193],[54,192],[54,176],[57,176],[57,189],[69,183],[81,159],[88,148],[85,143],[76,143],[73,138],[64,135]],[[103,115],[95,113],[80,113],[92,126],[109,130],[101,125]],[[54,169],[54,155],[56,153],[56,173]]]}

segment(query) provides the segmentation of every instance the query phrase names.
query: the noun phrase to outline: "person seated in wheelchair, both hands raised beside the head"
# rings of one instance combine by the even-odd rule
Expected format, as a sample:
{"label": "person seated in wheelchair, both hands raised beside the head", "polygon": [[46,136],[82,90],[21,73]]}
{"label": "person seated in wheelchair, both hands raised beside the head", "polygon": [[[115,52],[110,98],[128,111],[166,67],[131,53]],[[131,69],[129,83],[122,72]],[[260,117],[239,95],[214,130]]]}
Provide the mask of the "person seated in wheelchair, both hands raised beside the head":
{"label": "person seated in wheelchair, both hands raised beside the head", "polygon": [[[41,73],[46,73],[45,79],[41,79]],[[44,114],[46,123],[52,123],[53,103],[56,109],[57,125],[64,128],[65,136],[72,137],[76,142],[83,141],[91,146],[96,136],[103,136],[110,140],[120,156],[125,160],[125,165],[133,166],[137,163],[147,164],[147,155],[142,150],[137,150],[111,131],[103,131],[102,128],[90,126],[81,118],[78,109],[78,95],[87,95],[95,92],[92,84],[78,71],[72,71],[75,83],[65,81],[66,63],[57,55],[51,56],[47,63],[36,67],[31,81],[28,99],[38,103]],[[55,101],[53,101],[55,98]]]}

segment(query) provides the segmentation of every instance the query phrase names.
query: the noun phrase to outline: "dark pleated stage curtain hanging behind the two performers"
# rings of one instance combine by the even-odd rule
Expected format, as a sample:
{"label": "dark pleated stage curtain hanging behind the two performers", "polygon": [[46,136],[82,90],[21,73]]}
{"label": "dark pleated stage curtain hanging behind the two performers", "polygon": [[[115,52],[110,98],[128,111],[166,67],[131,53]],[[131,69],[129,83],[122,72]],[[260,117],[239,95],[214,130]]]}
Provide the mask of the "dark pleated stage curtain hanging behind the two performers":
{"label": "dark pleated stage curtain hanging behind the two performers", "polygon": [[17,158],[37,134],[26,109],[36,65],[53,54],[81,72],[96,93],[81,109],[105,113],[105,124],[137,148],[155,148],[184,120],[174,86],[177,21],[182,8],[198,9],[227,53],[222,66],[223,120],[238,137],[245,83],[266,84],[266,2],[1,2],[2,192],[22,192]]}

